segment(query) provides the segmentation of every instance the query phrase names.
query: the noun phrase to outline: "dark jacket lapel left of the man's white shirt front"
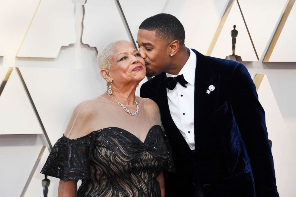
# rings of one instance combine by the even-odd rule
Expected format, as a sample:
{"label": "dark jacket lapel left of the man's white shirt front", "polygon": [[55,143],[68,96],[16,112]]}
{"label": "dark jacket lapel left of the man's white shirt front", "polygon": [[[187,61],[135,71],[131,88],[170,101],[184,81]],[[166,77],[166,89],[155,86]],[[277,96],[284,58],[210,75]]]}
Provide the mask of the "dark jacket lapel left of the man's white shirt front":
{"label": "dark jacket lapel left of the man's white shirt front", "polygon": [[158,104],[159,109],[161,111],[161,120],[162,124],[164,125],[164,128],[166,129],[166,133],[173,139],[174,141],[171,143],[175,143],[180,150],[184,152],[184,155],[192,160],[192,151],[190,150],[187,142],[185,141],[184,137],[180,133],[179,129],[175,125],[171,113],[169,111],[169,104],[167,101],[167,92],[166,92],[166,87],[164,86],[164,83],[162,83],[163,79],[166,78],[165,73],[161,73],[161,77],[159,80],[159,86],[155,90],[156,91],[156,96],[155,96],[155,102]]}

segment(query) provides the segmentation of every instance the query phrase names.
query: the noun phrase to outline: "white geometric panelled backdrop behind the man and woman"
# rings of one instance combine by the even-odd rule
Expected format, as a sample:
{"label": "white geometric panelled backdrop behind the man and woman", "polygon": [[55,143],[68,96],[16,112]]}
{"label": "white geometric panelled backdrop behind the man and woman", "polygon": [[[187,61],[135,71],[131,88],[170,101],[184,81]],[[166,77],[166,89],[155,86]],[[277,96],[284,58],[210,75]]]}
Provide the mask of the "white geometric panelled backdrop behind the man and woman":
{"label": "white geometric panelled backdrop behind the man and woman", "polygon": [[[119,0],[131,36],[116,0],[0,0],[0,80],[8,67],[19,68],[12,69],[0,95],[0,160],[5,161],[0,166],[4,177],[1,196],[42,196],[43,176],[38,172],[50,147],[63,134],[72,110],[107,88],[99,75],[97,51],[115,39],[136,40],[140,23],[157,13],[179,18],[186,46],[223,59],[232,53],[230,31],[237,26],[236,54],[253,77],[256,73],[268,76],[258,90],[259,99],[266,110],[269,135],[276,143],[272,151],[280,196],[293,196],[296,5],[270,62],[263,62],[289,1],[239,0],[245,25],[234,0]],[[47,150],[32,171],[42,146]],[[28,179],[30,174],[32,179]],[[49,196],[56,196],[58,180],[49,179]]]}

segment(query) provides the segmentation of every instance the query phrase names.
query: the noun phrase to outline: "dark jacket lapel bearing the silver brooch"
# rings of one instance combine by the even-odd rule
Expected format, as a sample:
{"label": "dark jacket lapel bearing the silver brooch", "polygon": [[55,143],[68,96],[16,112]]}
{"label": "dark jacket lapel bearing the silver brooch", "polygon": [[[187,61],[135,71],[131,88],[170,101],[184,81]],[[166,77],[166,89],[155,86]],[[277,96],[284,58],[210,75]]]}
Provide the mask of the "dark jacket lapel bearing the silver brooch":
{"label": "dark jacket lapel bearing the silver brooch", "polygon": [[[215,75],[212,72],[204,55],[192,50],[197,56],[194,90],[194,138],[195,155],[198,157],[203,153],[203,148],[211,135],[210,128],[213,124],[218,99],[220,75]],[[206,90],[210,85],[215,86],[215,90],[207,94]]]}

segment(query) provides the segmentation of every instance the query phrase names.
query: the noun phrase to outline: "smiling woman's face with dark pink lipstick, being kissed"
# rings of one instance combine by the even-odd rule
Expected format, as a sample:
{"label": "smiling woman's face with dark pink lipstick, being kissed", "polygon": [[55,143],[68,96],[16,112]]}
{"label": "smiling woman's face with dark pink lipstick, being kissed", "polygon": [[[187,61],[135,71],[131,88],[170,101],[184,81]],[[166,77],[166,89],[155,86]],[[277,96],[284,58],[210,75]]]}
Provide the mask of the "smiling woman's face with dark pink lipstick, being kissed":
{"label": "smiling woman's face with dark pink lipstick, being kissed", "polygon": [[144,59],[132,43],[118,42],[114,46],[114,55],[111,61],[110,75],[115,86],[119,84],[139,83],[146,75]]}

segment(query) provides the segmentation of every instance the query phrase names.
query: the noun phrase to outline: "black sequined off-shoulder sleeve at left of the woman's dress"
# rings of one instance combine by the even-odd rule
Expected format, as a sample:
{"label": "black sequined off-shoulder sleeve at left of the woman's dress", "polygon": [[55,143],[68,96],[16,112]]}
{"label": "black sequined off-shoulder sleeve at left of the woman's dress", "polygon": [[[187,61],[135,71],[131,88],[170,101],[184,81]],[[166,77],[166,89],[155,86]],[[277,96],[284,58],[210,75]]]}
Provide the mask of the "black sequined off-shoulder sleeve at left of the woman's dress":
{"label": "black sequined off-shoulder sleeve at left of the woman's dress", "polygon": [[53,146],[41,173],[64,181],[88,179],[93,139],[92,134],[77,139],[63,135]]}

